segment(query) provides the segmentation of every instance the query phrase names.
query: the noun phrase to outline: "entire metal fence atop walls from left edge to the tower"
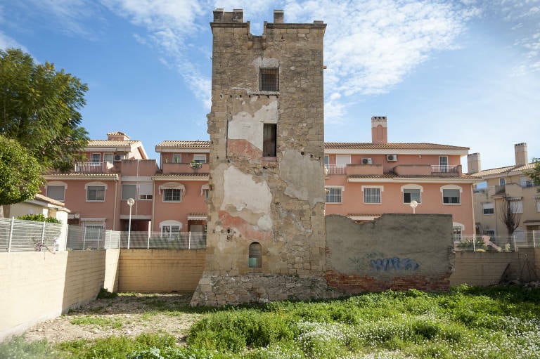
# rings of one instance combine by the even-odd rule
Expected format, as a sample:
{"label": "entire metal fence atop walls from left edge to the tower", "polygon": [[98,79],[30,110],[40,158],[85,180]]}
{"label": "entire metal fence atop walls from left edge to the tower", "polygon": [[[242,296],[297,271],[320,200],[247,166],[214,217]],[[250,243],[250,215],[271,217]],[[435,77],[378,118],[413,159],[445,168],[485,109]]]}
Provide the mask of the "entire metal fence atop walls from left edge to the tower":
{"label": "entire metal fence atop walls from left edge to the tower", "polygon": [[0,252],[57,252],[84,249],[205,249],[206,234],[200,232],[120,232],[99,226],[0,218]]}

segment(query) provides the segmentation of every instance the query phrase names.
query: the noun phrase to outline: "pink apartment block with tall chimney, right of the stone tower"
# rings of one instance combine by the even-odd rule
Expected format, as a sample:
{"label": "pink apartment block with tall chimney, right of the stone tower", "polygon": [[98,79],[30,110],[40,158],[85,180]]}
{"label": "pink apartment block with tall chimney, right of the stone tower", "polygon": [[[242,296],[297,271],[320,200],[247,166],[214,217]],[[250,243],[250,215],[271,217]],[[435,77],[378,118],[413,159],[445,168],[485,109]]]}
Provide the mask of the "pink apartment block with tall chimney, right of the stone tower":
{"label": "pink apartment block with tall chimney, right of the stone tower", "polygon": [[386,117],[371,118],[371,143],[326,143],[326,214],[371,221],[383,213],[451,214],[454,237],[475,232],[468,148],[388,143]]}

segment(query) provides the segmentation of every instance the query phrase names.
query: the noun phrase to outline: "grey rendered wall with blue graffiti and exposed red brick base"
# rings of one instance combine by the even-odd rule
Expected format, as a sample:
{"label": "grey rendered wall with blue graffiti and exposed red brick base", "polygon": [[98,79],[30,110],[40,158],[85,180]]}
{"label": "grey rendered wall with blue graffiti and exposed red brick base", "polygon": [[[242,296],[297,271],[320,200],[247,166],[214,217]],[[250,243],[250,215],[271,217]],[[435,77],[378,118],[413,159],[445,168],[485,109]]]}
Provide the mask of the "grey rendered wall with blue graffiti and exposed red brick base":
{"label": "grey rendered wall with blue graffiti and exposed red brick base", "polygon": [[326,216],[326,280],[348,293],[449,288],[452,216],[383,214],[354,223]]}

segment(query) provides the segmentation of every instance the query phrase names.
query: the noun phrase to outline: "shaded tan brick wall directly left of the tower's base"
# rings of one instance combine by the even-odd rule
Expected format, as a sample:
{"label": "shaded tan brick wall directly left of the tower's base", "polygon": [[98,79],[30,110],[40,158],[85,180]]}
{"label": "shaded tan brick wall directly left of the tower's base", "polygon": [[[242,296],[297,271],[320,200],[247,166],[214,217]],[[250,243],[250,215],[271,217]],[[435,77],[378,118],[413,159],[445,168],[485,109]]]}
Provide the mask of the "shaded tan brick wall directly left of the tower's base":
{"label": "shaded tan brick wall directly left of the tower's base", "polygon": [[119,292],[193,292],[203,274],[204,250],[122,249]]}

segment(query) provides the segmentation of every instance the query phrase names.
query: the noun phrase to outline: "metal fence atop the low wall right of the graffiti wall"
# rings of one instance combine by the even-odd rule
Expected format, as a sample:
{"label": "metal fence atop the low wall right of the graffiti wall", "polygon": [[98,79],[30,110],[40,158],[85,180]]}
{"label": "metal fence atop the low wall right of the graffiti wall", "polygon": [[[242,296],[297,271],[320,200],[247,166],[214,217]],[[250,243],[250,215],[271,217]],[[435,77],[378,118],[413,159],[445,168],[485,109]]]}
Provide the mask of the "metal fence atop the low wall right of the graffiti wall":
{"label": "metal fence atop the low wall right of the graffiti wall", "polygon": [[540,247],[540,230],[514,235],[461,235],[454,238],[454,249],[461,252],[516,252],[520,248]]}

